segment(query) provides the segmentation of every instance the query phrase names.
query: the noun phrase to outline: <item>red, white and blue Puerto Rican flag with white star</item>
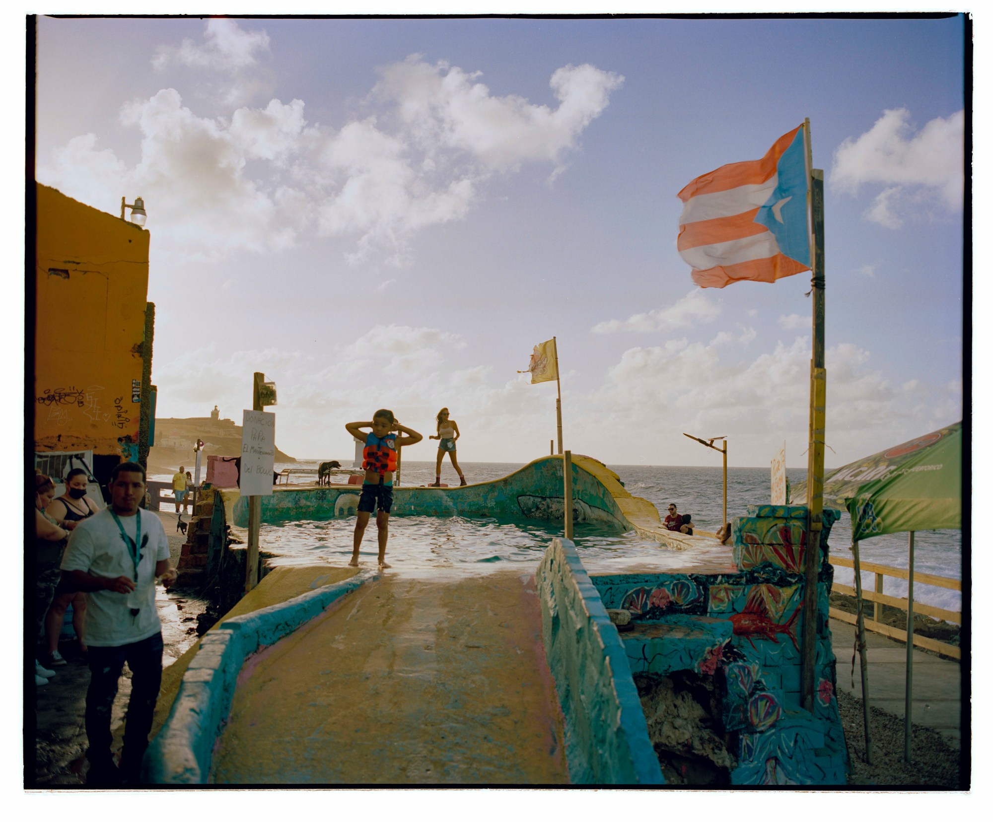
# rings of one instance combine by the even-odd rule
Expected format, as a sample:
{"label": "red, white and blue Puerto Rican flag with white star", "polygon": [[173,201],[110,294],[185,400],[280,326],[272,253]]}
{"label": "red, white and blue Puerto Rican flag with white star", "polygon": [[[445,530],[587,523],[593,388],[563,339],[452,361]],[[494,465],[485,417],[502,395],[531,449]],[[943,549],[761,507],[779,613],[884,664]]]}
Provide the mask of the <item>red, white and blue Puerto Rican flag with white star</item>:
{"label": "red, white and blue Puerto Rican flag with white star", "polygon": [[678,197],[676,245],[701,288],[773,283],[810,269],[803,126],[783,134],[762,160],[721,166]]}

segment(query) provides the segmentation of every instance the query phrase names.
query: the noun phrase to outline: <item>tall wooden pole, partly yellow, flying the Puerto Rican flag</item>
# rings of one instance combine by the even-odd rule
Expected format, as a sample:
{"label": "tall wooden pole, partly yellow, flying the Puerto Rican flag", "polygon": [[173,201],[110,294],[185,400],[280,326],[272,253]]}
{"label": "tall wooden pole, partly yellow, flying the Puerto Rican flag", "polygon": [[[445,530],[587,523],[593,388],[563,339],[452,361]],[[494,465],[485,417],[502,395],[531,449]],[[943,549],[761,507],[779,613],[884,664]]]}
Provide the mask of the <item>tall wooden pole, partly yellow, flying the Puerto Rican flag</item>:
{"label": "tall wooden pole, partly yellow, flying the Puerto Rican flag", "polygon": [[806,143],[807,190],[810,203],[812,356],[810,359],[810,424],[807,450],[807,551],[803,595],[803,646],[800,698],[813,711],[817,655],[817,575],[820,570],[820,537],[824,509],[824,425],[827,371],[824,368],[824,172],[812,168],[810,119],[803,121]]}

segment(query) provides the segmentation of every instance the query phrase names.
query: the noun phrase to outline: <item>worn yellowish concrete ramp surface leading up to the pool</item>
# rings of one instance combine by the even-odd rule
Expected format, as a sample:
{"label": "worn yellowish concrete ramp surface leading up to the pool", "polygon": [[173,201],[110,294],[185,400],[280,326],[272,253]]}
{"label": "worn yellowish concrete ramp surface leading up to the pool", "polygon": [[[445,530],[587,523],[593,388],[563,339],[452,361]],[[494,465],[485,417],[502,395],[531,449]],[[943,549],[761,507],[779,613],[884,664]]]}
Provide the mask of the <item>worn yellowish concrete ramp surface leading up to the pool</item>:
{"label": "worn yellowish concrete ramp surface leading up to the pool", "polygon": [[250,657],[225,784],[565,784],[533,579],[386,572]]}

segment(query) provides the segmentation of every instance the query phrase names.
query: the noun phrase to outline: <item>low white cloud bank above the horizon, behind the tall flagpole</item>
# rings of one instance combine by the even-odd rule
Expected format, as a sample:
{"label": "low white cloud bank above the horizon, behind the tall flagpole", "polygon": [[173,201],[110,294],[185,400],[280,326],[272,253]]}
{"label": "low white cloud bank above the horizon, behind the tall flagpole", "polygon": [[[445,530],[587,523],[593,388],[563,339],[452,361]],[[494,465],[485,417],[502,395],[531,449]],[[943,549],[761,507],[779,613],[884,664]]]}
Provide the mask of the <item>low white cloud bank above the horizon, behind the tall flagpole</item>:
{"label": "low white cloud bank above the horizon, behind the tall flagpole", "polygon": [[[608,369],[603,386],[585,398],[583,422],[578,431],[571,429],[579,443],[575,448],[587,448],[589,454],[609,448],[619,464],[690,465],[699,455],[679,432],[728,435],[739,464],[768,466],[785,438],[790,465],[801,464],[798,455],[807,446],[809,338],[780,342],[744,366],[737,356],[722,354],[721,342],[677,340],[625,351]],[[895,386],[874,367],[870,351],[851,343],[829,347],[825,358],[827,443],[838,465],[961,418],[960,386],[954,380]],[[647,420],[652,434],[644,437]],[[631,438],[627,452],[603,433],[627,431],[639,435]]]}

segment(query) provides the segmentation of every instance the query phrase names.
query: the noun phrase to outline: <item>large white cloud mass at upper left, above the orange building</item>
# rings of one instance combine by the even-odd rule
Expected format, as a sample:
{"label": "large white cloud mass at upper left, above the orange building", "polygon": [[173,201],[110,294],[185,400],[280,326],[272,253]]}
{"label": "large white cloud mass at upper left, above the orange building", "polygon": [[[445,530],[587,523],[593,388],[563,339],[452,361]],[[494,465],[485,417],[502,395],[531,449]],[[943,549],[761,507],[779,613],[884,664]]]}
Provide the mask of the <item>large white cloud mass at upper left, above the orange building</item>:
{"label": "large white cloud mass at upper left, above the orange building", "polygon": [[[268,48],[264,31],[214,19],[202,43],[164,48],[156,65],[230,72],[230,102],[264,86],[253,83]],[[121,108],[121,123],[140,135],[133,166],[86,134],[44,159],[38,177],[111,213],[123,192],[140,195],[166,254],[217,258],[344,237],[355,240],[351,263],[402,265],[414,235],[464,219],[497,173],[524,163],[560,172],[623,81],[589,65],[557,69],[552,108],[494,96],[478,75],[416,57],[387,66],[363,103],[373,113],[337,129],[309,125],[300,99],[208,117],[163,88]]]}

